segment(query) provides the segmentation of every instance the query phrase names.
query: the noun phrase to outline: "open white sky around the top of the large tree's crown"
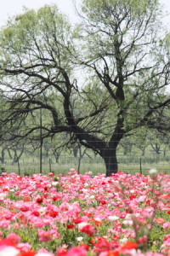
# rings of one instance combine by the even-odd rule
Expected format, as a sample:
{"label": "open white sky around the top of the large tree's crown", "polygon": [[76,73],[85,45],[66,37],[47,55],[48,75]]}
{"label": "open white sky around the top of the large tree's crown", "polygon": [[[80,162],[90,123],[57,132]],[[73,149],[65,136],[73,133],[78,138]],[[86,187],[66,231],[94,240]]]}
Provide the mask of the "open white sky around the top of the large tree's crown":
{"label": "open white sky around the top of the large tree's crown", "polygon": [[[29,9],[38,9],[50,3],[56,3],[63,13],[69,15],[70,20],[76,20],[72,0],[0,0],[0,26],[5,24],[8,17],[22,13],[24,6]],[[164,4],[165,11],[170,14],[170,0],[160,0],[160,3]],[[164,19],[165,26],[168,23],[170,26],[170,15]]]}

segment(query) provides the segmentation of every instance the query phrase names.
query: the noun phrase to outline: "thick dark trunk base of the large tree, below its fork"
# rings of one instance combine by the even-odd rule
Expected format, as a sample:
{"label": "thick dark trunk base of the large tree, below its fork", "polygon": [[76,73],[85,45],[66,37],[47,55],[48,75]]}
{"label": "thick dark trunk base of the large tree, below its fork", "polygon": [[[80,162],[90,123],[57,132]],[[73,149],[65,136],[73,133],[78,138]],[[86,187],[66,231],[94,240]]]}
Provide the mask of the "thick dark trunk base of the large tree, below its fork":
{"label": "thick dark trunk base of the large tree, below its fork", "polygon": [[104,153],[101,156],[105,161],[106,177],[110,177],[111,173],[116,173],[118,171],[116,148],[105,148]]}

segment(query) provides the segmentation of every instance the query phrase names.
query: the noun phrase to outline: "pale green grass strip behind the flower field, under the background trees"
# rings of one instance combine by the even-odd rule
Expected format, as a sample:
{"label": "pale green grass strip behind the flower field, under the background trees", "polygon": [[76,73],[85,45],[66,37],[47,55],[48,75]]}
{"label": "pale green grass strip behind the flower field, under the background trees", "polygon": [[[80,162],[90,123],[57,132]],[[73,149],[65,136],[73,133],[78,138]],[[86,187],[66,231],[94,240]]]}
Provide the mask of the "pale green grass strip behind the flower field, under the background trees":
{"label": "pale green grass strip behind the flower field, under the background trees", "polygon": [[[135,148],[134,148],[135,149]],[[40,170],[39,151],[34,154],[24,153],[20,158],[20,166],[18,163],[13,164],[12,160],[6,157],[6,164],[3,166],[6,172],[15,172],[20,175],[32,175]],[[80,173],[93,172],[93,175],[98,173],[105,173],[104,161],[94,154],[89,153],[88,156],[83,157],[81,160]],[[8,154],[6,154],[8,156]],[[148,174],[151,168],[156,168],[158,172],[164,172],[170,174],[170,155],[169,151],[167,156],[163,157],[162,154],[153,155],[150,154],[150,150],[146,152],[145,156],[141,156],[139,151],[133,151],[128,155],[123,155],[122,151],[118,151],[118,169],[119,171],[134,174],[135,172]],[[0,166],[1,167],[1,166]],[[20,168],[19,168],[20,167]],[[48,172],[55,172],[56,174],[66,174],[71,167],[78,169],[78,158],[74,158],[73,154],[64,153],[59,157],[59,163],[54,160],[54,156],[49,154],[46,157],[42,154],[42,173],[48,174]],[[20,169],[20,171],[19,171]]]}

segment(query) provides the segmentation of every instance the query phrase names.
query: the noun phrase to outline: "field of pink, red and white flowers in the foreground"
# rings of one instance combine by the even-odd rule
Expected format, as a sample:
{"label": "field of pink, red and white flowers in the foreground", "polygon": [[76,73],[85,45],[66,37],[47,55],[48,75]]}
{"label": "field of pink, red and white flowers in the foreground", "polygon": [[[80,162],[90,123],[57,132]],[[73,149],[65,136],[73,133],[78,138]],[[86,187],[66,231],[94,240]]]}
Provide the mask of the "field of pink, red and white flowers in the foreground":
{"label": "field of pink, red and white flowers in the foreground", "polygon": [[170,256],[170,175],[0,176],[0,256]]}

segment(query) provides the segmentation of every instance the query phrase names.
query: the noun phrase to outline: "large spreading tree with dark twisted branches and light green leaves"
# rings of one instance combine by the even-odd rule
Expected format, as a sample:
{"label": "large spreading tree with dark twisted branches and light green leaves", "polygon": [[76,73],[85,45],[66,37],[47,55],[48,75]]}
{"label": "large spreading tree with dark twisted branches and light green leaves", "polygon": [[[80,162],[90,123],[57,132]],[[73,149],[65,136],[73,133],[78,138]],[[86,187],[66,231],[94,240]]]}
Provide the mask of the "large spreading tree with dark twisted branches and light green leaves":
{"label": "large spreading tree with dark twisted branches and light green leaves", "polygon": [[168,130],[170,40],[157,33],[156,0],[84,0],[81,15],[72,28],[56,6],[45,6],[3,27],[0,80],[10,107],[2,122],[20,128],[43,109],[42,124],[17,137],[65,133],[66,143],[99,154],[110,176],[125,135]]}

